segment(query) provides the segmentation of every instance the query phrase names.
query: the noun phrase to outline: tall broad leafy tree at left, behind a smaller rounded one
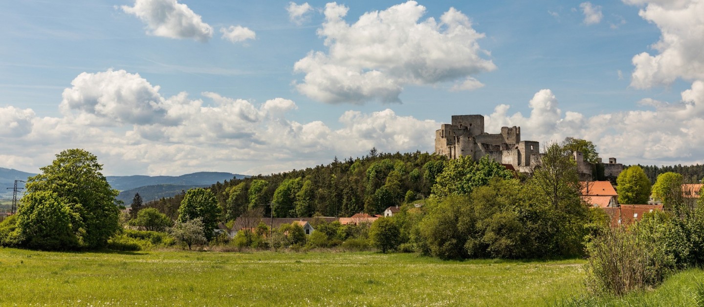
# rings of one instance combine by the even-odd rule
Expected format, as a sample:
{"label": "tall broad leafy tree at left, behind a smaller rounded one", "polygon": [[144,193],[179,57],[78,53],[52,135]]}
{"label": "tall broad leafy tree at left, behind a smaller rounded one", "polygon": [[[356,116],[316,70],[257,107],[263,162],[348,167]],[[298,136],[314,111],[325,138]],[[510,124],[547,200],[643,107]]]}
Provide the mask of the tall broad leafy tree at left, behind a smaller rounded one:
{"label": "tall broad leafy tree at left, behind a smaller rounded one", "polygon": [[[27,200],[20,205],[26,207],[20,209],[18,219],[40,223],[46,229],[54,228],[51,223],[61,223],[62,226],[58,229],[62,229],[59,231],[63,236],[66,235],[63,232],[65,218],[68,218],[71,239],[61,240],[69,244],[62,248],[94,249],[105,246],[108,238],[120,229],[120,209],[118,200],[115,199],[119,192],[110,187],[101,174],[102,169],[103,165],[90,152],[82,149],[64,150],[56,155],[51,165],[41,168],[41,174],[27,179]],[[38,203],[45,200],[50,204]],[[39,212],[44,209],[59,216],[49,220],[34,218],[44,214]],[[24,223],[18,227],[20,232],[27,235],[24,239],[27,242],[39,242],[37,240],[40,239],[34,237],[39,233],[23,229],[27,227],[31,227],[30,224]]]}

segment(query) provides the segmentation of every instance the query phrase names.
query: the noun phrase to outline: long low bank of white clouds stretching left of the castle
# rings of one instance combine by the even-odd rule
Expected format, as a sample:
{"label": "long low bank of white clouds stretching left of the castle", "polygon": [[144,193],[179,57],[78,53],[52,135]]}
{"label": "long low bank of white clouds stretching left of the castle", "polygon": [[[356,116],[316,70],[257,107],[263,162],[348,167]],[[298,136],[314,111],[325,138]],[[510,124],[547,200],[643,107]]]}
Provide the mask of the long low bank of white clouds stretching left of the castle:
{"label": "long low bank of white clouds stretching left of the castle", "polygon": [[263,103],[200,93],[166,97],[160,86],[125,70],[84,72],[65,89],[62,117],[0,107],[3,167],[37,171],[65,148],[98,155],[106,174],[232,171],[268,174],[382,151],[432,151],[438,123],[392,110],[348,111],[339,129],[296,122],[293,100]]}

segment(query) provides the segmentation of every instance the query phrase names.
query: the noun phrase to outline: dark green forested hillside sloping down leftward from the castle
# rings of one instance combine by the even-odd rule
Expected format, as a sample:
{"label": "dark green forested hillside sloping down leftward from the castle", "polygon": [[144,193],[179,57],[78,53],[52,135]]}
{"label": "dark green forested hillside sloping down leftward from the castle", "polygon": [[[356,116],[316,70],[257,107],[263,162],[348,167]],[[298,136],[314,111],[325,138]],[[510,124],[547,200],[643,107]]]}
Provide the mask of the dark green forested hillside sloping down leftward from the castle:
{"label": "dark green forested hillside sloping down leftward from the castle", "polygon": [[[420,151],[372,150],[361,158],[336,157],[327,165],[217,183],[211,190],[226,220],[257,208],[268,216],[271,207],[276,217],[381,214],[387,207],[427,197],[445,160]],[[147,206],[175,218],[180,200],[182,195],[176,195]]]}

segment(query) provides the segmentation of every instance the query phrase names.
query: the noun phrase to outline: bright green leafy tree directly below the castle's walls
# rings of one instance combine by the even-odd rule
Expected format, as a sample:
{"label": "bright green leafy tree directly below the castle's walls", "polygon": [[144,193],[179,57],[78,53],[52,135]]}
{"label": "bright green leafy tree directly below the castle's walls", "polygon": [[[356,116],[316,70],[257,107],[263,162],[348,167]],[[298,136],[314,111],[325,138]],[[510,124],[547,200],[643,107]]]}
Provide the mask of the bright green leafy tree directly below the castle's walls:
{"label": "bright green leafy tree directly below the castle's walls", "polygon": [[463,156],[450,160],[436,178],[432,193],[438,197],[449,195],[470,195],[472,189],[489,183],[494,177],[510,179],[513,172],[488,156],[474,162],[472,157]]}

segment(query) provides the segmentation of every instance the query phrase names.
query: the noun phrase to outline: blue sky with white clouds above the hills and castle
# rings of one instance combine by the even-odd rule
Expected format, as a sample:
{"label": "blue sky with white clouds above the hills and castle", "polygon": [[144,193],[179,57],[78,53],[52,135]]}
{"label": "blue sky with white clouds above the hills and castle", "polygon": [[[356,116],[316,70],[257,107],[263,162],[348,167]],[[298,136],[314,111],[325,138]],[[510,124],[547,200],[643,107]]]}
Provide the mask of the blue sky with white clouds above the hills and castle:
{"label": "blue sky with white clouds above the hills and castle", "polygon": [[704,163],[704,0],[18,0],[0,28],[0,167],[270,174],[433,152],[473,114]]}

